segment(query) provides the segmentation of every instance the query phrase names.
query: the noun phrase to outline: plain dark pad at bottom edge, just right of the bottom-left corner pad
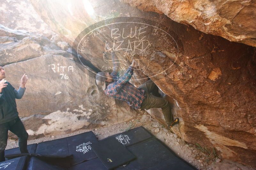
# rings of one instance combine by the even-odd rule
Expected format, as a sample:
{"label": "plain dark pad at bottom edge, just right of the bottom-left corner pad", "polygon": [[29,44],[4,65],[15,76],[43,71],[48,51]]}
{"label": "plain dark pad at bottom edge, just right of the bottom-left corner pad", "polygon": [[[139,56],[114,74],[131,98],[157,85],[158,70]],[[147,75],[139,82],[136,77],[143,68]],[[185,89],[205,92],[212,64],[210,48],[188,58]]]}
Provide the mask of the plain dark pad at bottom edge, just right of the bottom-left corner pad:
{"label": "plain dark pad at bottom edge, just right of the bottom-left corner pad", "polygon": [[27,165],[27,170],[65,170],[65,169],[57,165],[46,163],[35,157],[31,157]]}

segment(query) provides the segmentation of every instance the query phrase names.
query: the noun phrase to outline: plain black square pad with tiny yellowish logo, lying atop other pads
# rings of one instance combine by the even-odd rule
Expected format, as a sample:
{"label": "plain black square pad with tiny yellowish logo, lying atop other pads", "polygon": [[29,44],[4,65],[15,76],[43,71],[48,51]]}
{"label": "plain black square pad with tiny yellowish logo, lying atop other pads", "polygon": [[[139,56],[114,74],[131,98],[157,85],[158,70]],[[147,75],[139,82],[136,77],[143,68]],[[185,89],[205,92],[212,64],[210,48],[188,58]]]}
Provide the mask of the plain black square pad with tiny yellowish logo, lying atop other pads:
{"label": "plain black square pad with tiny yellowish logo, lying atop other pads", "polygon": [[94,143],[92,149],[107,169],[122,166],[136,158],[115,138],[106,138]]}

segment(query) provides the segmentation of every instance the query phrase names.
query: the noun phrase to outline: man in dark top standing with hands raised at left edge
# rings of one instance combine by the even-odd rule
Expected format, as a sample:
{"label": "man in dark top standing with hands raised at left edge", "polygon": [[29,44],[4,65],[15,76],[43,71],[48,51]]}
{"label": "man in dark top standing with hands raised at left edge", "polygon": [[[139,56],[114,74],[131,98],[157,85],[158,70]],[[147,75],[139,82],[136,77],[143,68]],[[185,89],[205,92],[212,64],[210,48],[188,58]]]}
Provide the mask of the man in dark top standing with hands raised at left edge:
{"label": "man in dark top standing with hands raised at left edge", "polygon": [[16,99],[21,99],[26,88],[27,75],[21,77],[19,90],[16,90],[12,85],[4,80],[5,71],[0,64],[0,162],[4,161],[4,150],[7,145],[8,131],[18,136],[19,150],[21,153],[28,153],[27,138],[28,133],[21,122],[16,105]]}

